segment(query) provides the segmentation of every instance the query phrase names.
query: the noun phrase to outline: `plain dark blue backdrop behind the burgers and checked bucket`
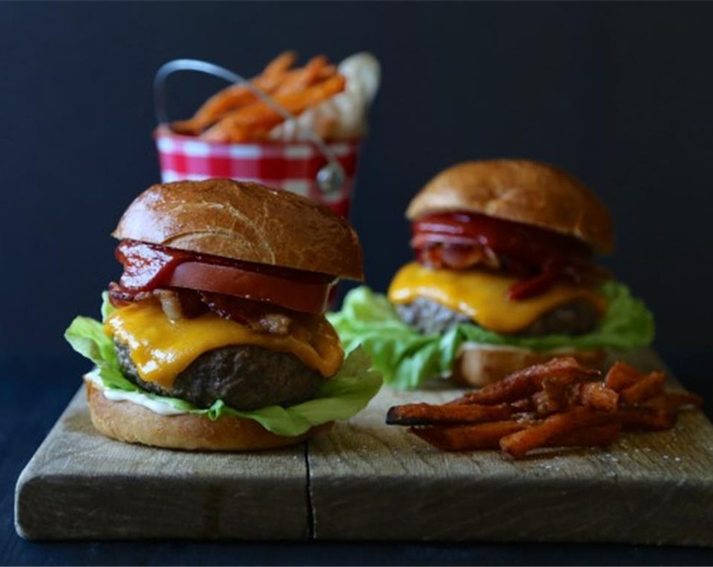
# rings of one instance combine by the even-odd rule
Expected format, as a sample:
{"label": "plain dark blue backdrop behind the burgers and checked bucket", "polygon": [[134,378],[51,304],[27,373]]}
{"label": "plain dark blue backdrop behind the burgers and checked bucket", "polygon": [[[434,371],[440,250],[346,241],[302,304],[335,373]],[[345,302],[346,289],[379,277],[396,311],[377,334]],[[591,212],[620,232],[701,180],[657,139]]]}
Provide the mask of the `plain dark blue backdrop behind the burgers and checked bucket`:
{"label": "plain dark blue backdrop behind the burgers and checked bucket", "polygon": [[[109,233],[158,179],[151,81],[193,56],[250,74],[283,48],[383,63],[353,223],[369,283],[410,257],[403,211],[458,160],[523,156],[610,205],[606,260],[657,346],[709,346],[712,4],[0,4],[0,354],[61,334],[118,275]],[[186,73],[175,116],[220,86]],[[700,354],[702,356],[702,354]]]}

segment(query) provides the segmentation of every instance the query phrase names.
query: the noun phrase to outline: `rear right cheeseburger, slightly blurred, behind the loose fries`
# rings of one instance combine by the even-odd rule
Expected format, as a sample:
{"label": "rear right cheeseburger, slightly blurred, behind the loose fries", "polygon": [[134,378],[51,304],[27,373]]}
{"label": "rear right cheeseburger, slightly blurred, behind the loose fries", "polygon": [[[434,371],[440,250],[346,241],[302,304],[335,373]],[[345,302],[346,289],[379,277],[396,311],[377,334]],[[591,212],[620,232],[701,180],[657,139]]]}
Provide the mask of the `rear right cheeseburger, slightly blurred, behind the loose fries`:
{"label": "rear right cheeseburger, slightly blurred, behind the loose fries", "polygon": [[[568,173],[530,160],[461,163],[406,217],[415,261],[389,301],[360,288],[334,317],[392,384],[435,374],[480,386],[555,355],[597,365],[607,349],[652,340],[644,305],[593,263],[613,247],[607,208]],[[379,339],[386,321],[390,338]]]}

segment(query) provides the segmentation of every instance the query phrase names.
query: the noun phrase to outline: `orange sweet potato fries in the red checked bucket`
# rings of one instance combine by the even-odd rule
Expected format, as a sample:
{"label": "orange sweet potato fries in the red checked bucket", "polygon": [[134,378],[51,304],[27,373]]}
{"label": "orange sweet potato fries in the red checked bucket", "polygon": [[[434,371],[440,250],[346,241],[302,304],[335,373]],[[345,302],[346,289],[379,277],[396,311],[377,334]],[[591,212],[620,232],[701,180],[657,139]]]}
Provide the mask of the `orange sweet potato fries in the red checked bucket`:
{"label": "orange sweet potato fries in the red checked bucket", "polygon": [[[285,51],[273,59],[251,83],[294,115],[344,91],[346,80],[324,55],[293,68],[297,55]],[[193,118],[174,122],[174,132],[214,142],[246,142],[267,138],[282,123],[279,113],[245,86],[224,88],[209,98]]]}

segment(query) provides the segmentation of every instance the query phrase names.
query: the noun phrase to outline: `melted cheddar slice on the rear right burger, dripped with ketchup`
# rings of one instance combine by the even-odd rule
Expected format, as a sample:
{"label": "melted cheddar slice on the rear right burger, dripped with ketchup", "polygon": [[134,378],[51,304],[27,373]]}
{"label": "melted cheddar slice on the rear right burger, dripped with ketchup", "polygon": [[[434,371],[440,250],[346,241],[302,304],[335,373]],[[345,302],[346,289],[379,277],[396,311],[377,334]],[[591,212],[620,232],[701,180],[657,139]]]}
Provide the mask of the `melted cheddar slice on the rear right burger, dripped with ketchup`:
{"label": "melted cheddar slice on the rear right burger, dripped with ketchup", "polygon": [[426,297],[501,333],[521,331],[546,312],[576,300],[590,302],[600,314],[606,310],[605,298],[592,288],[565,284],[556,284],[537,297],[513,301],[508,298],[508,289],[516,281],[481,270],[432,270],[412,262],[391,281],[389,300],[404,304]]}

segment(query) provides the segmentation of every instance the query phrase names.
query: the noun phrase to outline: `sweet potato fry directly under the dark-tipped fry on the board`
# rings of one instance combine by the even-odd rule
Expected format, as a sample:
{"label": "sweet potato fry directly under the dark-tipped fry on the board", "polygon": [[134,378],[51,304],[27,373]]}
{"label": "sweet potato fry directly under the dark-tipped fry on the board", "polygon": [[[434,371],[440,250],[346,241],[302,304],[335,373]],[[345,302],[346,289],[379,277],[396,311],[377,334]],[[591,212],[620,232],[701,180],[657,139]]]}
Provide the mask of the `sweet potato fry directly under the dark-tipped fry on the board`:
{"label": "sweet potato fry directly under the dark-tipped fry on the board", "polygon": [[527,426],[513,420],[478,425],[411,427],[409,431],[443,451],[482,451],[498,449],[503,436]]}

